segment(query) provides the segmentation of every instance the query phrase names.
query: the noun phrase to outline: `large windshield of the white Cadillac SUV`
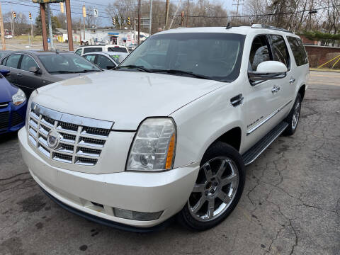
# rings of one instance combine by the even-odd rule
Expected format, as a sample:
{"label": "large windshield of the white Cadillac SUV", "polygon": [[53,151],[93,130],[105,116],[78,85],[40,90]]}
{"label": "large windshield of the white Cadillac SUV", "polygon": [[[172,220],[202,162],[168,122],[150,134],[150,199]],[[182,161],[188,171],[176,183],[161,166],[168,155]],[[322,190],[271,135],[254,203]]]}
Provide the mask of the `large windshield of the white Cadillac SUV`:
{"label": "large windshield of the white Cadillac SUV", "polygon": [[217,81],[233,81],[239,76],[244,38],[245,35],[231,33],[153,35],[125,59],[120,70],[138,66],[151,72],[187,72]]}

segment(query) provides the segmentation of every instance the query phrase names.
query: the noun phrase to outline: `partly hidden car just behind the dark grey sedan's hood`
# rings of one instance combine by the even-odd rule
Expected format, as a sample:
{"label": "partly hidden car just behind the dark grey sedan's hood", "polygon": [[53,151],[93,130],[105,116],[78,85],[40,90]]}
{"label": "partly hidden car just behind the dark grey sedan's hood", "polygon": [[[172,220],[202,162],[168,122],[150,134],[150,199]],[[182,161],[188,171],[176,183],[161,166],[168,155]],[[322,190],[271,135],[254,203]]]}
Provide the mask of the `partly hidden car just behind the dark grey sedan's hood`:
{"label": "partly hidden car just behind the dark grey sedan's hood", "polygon": [[128,55],[125,52],[91,52],[84,54],[83,57],[98,65],[101,69],[109,70],[117,67]]}

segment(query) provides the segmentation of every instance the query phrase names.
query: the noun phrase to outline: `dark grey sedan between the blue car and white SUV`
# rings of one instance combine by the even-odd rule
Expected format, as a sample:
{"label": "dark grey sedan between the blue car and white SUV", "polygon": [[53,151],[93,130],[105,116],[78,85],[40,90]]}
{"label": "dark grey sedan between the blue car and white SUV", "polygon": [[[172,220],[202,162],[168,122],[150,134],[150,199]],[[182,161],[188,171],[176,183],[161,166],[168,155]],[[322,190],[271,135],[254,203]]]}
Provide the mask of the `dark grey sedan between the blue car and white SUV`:
{"label": "dark grey sedan between the blue car and white SUV", "polygon": [[53,82],[102,71],[73,52],[13,51],[0,64],[0,69],[11,72],[8,81],[21,88],[26,96]]}

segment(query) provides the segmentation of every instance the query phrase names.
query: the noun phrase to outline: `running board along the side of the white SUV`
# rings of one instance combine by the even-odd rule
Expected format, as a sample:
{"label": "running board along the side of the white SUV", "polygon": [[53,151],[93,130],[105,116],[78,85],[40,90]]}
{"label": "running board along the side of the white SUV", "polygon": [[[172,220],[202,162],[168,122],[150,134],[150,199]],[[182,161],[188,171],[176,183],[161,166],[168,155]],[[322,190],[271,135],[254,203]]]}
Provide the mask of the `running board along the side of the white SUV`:
{"label": "running board along the side of the white SUV", "polygon": [[254,160],[257,159],[257,157],[259,157],[260,154],[264,152],[264,150],[267,149],[267,147],[271,145],[271,143],[274,142],[287,127],[288,123],[285,121],[281,122],[270,132],[268,132],[268,134],[265,135],[261,140],[259,140],[259,142],[257,142],[253,147],[244,152],[244,154],[242,154],[244,165],[248,166],[249,164],[253,163]]}

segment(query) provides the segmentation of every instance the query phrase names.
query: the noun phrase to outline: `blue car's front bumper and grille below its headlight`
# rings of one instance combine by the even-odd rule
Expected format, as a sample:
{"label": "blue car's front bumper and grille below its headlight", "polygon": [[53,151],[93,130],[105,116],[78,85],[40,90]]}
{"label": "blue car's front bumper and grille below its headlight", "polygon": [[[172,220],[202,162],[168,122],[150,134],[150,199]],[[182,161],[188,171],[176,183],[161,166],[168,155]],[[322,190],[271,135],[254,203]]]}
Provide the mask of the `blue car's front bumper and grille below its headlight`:
{"label": "blue car's front bumper and grille below its headlight", "polygon": [[11,102],[0,109],[0,134],[14,132],[25,125],[27,102],[14,106]]}

